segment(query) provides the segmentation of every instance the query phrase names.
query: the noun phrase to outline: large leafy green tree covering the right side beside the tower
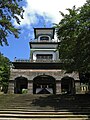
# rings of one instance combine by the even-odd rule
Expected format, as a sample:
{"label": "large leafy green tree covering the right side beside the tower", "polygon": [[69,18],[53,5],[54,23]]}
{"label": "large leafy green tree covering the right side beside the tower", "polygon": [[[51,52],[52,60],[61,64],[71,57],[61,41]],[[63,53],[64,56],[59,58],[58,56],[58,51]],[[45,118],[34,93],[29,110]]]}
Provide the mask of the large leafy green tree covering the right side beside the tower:
{"label": "large leafy green tree covering the right side beside the tower", "polygon": [[80,8],[67,10],[68,14],[60,12],[63,19],[55,26],[64,69],[90,72],[90,0]]}

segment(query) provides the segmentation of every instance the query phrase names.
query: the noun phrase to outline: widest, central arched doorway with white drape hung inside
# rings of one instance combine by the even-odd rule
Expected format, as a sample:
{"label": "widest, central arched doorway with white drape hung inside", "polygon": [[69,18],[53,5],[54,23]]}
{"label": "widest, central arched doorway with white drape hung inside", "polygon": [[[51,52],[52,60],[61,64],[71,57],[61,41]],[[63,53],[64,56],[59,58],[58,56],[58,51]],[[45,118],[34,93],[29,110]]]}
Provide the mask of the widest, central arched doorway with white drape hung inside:
{"label": "widest, central arched doorway with white drape hung inside", "polygon": [[33,80],[33,94],[55,94],[55,78],[48,75],[40,75]]}

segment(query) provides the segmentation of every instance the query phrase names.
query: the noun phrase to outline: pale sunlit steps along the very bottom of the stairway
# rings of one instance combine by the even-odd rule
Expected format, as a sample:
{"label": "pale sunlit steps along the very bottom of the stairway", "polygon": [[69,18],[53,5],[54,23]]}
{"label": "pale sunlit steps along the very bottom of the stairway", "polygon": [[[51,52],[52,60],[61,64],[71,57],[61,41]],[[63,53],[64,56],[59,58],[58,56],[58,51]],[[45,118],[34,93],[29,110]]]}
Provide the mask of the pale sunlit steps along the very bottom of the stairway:
{"label": "pale sunlit steps along the very bottom of the stairway", "polygon": [[90,113],[68,112],[68,111],[23,111],[23,110],[4,110],[0,111],[0,120],[89,120]]}

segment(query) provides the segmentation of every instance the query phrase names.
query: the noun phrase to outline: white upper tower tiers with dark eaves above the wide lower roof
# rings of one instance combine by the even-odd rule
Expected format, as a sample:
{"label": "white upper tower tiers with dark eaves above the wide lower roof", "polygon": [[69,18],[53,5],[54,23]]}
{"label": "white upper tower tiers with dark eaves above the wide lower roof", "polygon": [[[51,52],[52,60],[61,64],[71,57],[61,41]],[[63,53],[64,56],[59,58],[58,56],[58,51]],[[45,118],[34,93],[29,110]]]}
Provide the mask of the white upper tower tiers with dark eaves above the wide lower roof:
{"label": "white upper tower tiers with dark eaves above the wide lower roof", "polygon": [[30,41],[30,59],[33,61],[58,60],[59,42],[54,39],[55,28],[34,28],[35,40]]}

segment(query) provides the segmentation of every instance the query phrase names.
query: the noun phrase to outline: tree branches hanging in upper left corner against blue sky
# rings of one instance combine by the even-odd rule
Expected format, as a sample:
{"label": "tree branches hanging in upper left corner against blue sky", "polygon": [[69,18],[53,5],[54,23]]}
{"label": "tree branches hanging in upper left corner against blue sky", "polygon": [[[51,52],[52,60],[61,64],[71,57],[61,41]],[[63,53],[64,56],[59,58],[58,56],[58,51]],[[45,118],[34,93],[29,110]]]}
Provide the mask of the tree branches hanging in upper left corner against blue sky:
{"label": "tree branches hanging in upper left corner against blue sky", "polygon": [[0,0],[0,45],[3,43],[8,45],[7,37],[13,34],[18,38],[19,29],[13,25],[13,20],[20,24],[20,19],[23,19],[23,8],[19,6],[22,0]]}

